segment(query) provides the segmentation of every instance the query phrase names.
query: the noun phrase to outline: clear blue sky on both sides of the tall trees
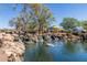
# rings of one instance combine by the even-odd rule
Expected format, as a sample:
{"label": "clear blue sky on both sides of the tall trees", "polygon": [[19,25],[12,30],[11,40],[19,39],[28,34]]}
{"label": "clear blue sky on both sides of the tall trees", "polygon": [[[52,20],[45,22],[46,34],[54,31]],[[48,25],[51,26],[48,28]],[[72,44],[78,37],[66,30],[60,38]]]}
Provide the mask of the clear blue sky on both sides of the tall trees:
{"label": "clear blue sky on both sides of the tall trees", "polygon": [[[56,20],[56,22],[52,23],[52,25],[58,26],[63,21],[63,18],[75,18],[80,21],[87,20],[87,4],[85,3],[44,3],[44,6],[52,11]],[[13,10],[13,7],[14,4],[11,3],[0,3],[0,29],[11,28],[9,25],[9,21],[12,18],[15,18],[21,10],[21,6],[19,6],[15,11]]]}

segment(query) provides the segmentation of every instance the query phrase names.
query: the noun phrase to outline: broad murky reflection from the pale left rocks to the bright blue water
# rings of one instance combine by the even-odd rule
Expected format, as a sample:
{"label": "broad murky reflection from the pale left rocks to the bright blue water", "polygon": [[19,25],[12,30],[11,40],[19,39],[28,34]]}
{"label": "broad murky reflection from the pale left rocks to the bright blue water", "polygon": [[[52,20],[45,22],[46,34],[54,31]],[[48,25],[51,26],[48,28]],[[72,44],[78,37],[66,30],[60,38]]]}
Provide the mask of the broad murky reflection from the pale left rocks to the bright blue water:
{"label": "broad murky reflection from the pale left rocks to the bright blue water", "polygon": [[[50,62],[52,61],[51,55],[47,52],[47,46],[45,43],[42,44],[42,42],[34,44],[34,47],[31,47],[32,45],[29,45],[29,51],[25,53],[25,61],[32,61],[32,62]],[[28,50],[28,48],[26,48]]]}

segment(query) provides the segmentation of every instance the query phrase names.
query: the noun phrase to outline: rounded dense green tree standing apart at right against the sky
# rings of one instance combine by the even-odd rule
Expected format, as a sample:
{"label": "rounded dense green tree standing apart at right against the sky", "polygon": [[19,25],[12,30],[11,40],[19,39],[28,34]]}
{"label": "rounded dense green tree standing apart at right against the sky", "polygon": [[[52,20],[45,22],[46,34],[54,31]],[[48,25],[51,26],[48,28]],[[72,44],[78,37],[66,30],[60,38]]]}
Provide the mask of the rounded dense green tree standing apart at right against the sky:
{"label": "rounded dense green tree standing apart at right against the sky", "polygon": [[61,25],[65,30],[73,30],[75,26],[79,26],[79,21],[74,18],[64,18]]}

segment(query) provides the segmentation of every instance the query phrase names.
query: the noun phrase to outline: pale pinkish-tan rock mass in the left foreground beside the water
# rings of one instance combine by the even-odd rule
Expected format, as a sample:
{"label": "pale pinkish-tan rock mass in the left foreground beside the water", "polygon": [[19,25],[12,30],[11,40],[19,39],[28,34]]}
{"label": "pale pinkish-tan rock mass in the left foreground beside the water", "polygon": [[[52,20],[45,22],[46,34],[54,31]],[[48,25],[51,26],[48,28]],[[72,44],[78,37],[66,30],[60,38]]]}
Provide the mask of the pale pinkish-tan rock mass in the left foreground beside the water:
{"label": "pale pinkish-tan rock mass in the left foreground beside the water", "polygon": [[[2,43],[1,44],[1,47],[0,50],[3,52],[3,53],[0,53],[3,54],[2,56],[0,56],[0,58],[2,61],[7,61],[7,62],[21,62],[23,61],[23,53],[25,51],[25,46],[23,43],[21,42],[14,42],[14,36],[12,34],[2,34],[0,33],[0,40]],[[1,52],[0,51],[0,52]],[[1,61],[0,59],[0,61]]]}

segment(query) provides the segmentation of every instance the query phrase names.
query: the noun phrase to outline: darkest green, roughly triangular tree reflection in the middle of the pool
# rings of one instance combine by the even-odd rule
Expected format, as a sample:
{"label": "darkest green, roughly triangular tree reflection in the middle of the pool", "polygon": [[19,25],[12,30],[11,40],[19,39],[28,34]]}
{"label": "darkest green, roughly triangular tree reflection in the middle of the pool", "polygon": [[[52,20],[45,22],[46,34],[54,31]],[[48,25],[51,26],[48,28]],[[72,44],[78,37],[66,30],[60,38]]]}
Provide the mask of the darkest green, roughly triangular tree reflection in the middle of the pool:
{"label": "darkest green, roughly triangular tree reflection in the middle of the pool", "polygon": [[34,56],[35,56],[34,61],[37,61],[37,62],[48,62],[48,61],[52,61],[51,55],[47,53],[47,48],[44,45],[39,46],[39,48],[35,52]]}

